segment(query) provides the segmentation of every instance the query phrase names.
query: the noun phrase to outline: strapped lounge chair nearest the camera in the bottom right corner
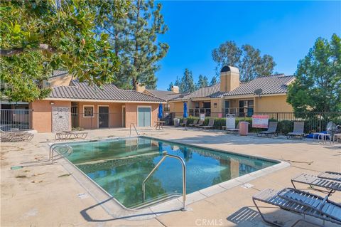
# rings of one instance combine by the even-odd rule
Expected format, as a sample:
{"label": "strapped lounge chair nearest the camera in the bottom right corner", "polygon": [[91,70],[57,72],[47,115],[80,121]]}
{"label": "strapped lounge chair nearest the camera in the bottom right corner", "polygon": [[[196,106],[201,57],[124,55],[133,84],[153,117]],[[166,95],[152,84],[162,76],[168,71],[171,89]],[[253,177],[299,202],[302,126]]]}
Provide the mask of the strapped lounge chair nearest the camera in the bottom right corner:
{"label": "strapped lounge chair nearest the camera in the bottom right corner", "polygon": [[254,201],[254,205],[259,211],[261,218],[263,218],[266,223],[270,223],[274,226],[281,225],[275,221],[269,221],[266,219],[264,214],[261,213],[256,201],[261,201],[266,204],[277,206],[285,211],[291,211],[293,213],[303,215],[303,219],[299,219],[293,223],[293,226],[295,226],[299,221],[309,223],[309,221],[305,220],[305,215],[319,218],[320,220],[323,220],[323,223],[325,221],[330,221],[339,225],[341,224],[341,205],[330,201],[328,196],[323,198],[309,192],[290,188],[283,189],[281,191],[265,189],[259,192],[259,194],[253,196],[252,201]]}

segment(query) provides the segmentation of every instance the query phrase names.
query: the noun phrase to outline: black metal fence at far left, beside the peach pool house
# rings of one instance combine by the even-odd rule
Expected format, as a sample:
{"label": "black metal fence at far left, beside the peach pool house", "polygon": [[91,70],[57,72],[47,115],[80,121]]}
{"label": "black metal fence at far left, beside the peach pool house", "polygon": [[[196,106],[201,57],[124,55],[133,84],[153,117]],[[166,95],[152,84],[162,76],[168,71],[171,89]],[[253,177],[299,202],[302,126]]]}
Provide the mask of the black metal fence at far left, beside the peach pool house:
{"label": "black metal fence at far left, beside the peach pool house", "polygon": [[31,130],[32,110],[0,110],[1,125],[3,131]]}

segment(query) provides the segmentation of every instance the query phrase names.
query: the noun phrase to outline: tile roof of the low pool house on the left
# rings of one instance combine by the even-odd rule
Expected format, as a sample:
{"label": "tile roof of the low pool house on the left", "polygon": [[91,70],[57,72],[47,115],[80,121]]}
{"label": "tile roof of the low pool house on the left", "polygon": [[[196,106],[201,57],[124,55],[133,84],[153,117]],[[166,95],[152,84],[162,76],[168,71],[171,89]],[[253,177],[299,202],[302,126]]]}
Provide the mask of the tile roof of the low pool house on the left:
{"label": "tile roof of the low pool house on the left", "polygon": [[107,84],[99,88],[72,80],[69,86],[57,86],[52,88],[50,98],[82,99],[82,100],[113,100],[136,102],[164,102],[165,100],[136,92],[135,90],[123,90],[115,85]]}

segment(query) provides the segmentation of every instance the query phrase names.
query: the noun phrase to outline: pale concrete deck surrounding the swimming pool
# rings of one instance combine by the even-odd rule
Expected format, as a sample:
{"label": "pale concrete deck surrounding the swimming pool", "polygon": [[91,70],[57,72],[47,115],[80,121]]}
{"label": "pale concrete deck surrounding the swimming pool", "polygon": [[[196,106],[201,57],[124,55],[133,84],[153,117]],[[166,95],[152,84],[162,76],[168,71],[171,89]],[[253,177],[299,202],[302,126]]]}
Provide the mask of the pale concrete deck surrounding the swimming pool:
{"label": "pale concrete deck surrounding the swimming pool", "polygon": [[[141,130],[140,133],[229,152],[281,159],[291,166],[248,181],[247,185],[236,184],[218,194],[210,195],[210,191],[200,190],[196,193],[204,198],[190,204],[189,211],[172,211],[164,207],[162,215],[140,213],[139,216],[149,216],[148,219],[131,221],[131,216],[110,216],[102,208],[102,201],[92,198],[72,175],[68,175],[59,161],[53,165],[36,165],[38,159],[48,157],[46,145],[54,138],[52,133],[36,134],[31,142],[1,143],[1,226],[266,226],[256,212],[252,195],[266,188],[291,186],[290,179],[302,172],[341,171],[340,144],[318,144],[310,139],[239,137],[218,130],[185,131],[175,127]],[[126,129],[92,130],[87,139],[128,135],[129,130]],[[21,162],[34,165],[11,170]],[[335,193],[330,199],[341,203],[341,194]],[[159,206],[163,208],[166,204]],[[263,210],[285,226],[300,217],[274,208]],[[322,223],[315,218],[309,220]]]}

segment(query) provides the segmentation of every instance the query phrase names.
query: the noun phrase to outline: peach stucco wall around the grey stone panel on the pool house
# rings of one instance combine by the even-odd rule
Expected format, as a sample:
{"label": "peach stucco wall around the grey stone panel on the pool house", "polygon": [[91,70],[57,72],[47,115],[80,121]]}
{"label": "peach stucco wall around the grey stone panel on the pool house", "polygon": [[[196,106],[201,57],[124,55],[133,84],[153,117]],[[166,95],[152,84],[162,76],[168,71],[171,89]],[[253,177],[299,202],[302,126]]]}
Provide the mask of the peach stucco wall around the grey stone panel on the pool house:
{"label": "peach stucco wall around the grey stone panel on the pool house", "polygon": [[[29,104],[29,108],[33,110],[33,130],[37,130],[38,132],[52,132],[52,107],[71,107],[70,101],[53,102],[54,105],[50,105],[50,100],[36,100]],[[69,130],[71,130],[71,125]]]}

